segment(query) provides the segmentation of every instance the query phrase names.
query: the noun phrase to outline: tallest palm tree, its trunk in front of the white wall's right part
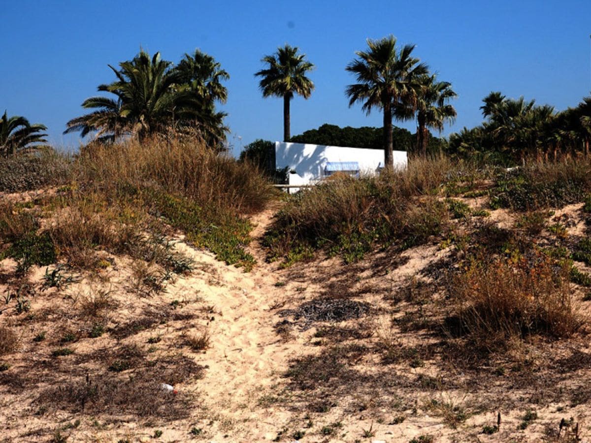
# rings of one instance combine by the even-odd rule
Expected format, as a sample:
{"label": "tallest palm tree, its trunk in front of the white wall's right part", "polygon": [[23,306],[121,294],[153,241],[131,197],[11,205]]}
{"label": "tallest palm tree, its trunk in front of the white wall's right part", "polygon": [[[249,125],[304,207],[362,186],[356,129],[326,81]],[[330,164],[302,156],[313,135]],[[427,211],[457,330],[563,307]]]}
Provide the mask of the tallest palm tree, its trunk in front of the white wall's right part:
{"label": "tallest palm tree, its trunk in front of the white wall's right part", "polygon": [[[384,160],[385,167],[394,167],[392,146],[392,109],[416,109],[419,79],[427,74],[427,65],[411,57],[414,45],[400,50],[393,35],[381,40],[369,40],[368,51],[357,51],[358,58],[348,64],[346,70],[355,74],[359,83],[346,89],[349,106],[363,102],[362,109],[370,113],[372,108],[384,110]],[[401,107],[399,105],[402,105]],[[407,118],[404,113],[401,118]]]}

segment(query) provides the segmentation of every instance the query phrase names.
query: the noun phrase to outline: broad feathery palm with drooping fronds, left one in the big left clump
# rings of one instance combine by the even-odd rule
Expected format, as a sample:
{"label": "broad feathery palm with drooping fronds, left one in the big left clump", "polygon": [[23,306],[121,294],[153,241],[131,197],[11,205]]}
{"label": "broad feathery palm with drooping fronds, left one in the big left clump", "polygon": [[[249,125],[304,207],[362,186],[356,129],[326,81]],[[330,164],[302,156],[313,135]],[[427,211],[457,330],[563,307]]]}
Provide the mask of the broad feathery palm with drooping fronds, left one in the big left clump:
{"label": "broad feathery palm with drooping fronds, left one in the big left clump", "polygon": [[178,121],[194,118],[199,113],[199,102],[189,90],[176,90],[180,75],[170,61],[161,60],[160,53],[140,51],[131,61],[119,63],[119,70],[111,65],[117,80],[101,84],[100,92],[114,94],[116,99],[90,97],[82,106],[98,109],[66,123],[64,133],[82,131],[86,135],[98,131],[103,138],[118,138],[133,134],[144,139],[156,132],[167,131]]}

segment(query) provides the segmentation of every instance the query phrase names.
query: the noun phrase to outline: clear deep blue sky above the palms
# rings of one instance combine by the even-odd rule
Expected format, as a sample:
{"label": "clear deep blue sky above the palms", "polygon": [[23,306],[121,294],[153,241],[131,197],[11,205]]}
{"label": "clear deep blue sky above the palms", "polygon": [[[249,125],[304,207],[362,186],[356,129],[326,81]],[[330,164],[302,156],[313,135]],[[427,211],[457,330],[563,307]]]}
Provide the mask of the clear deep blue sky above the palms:
{"label": "clear deep blue sky above the palms", "polygon": [[[591,90],[591,1],[106,1],[20,0],[0,7],[0,110],[48,126],[58,146],[81,115],[80,103],[113,80],[107,64],[143,47],[180,60],[200,48],[231,76],[226,86],[230,142],[280,139],[282,102],[263,99],[254,77],[278,45],[300,47],[316,64],[309,100],[294,99],[291,133],[323,123],[381,126],[348,108],[345,66],[366,38],[393,34],[417,45],[415,55],[452,82],[458,118],[444,134],[482,121],[480,100],[491,90],[535,98],[557,109]],[[398,123],[397,123],[398,124]],[[413,123],[401,124],[414,132]]]}

